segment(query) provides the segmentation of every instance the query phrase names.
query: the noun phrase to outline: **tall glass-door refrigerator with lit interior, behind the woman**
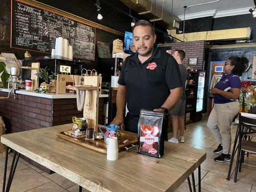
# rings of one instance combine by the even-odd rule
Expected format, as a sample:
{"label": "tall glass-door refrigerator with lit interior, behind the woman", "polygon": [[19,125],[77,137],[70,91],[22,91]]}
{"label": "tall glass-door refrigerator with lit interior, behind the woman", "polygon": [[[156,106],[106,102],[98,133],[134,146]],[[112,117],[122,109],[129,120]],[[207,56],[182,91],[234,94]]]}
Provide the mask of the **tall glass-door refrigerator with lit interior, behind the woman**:
{"label": "tall glass-door refrigerator with lit interior, behind the woman", "polygon": [[196,79],[196,99],[195,99],[195,115],[194,115],[194,122],[202,120],[202,114],[204,109],[204,88],[205,88],[205,78],[206,72],[205,71],[197,71],[197,79]]}

